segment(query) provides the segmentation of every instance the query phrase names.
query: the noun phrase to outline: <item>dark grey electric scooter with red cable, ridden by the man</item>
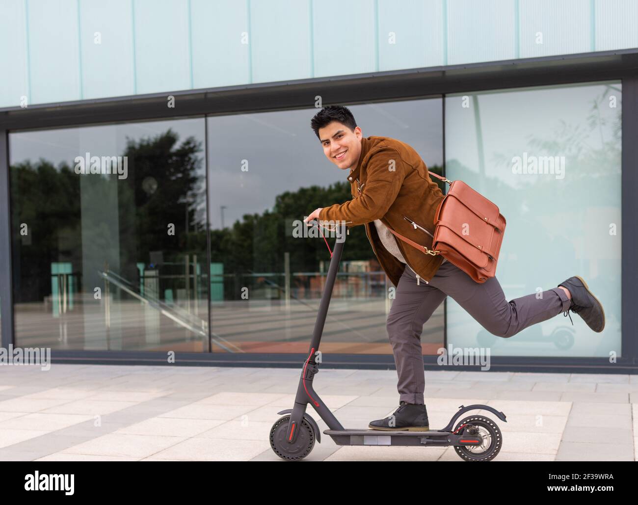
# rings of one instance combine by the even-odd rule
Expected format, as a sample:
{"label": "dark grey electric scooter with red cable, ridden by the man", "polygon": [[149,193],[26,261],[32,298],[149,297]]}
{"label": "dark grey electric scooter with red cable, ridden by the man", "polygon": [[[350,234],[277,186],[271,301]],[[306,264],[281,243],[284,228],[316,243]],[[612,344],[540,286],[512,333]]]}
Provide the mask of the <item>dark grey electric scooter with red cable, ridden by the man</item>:
{"label": "dark grey electric scooter with red cable, ridden by the man", "polygon": [[[341,242],[339,239],[343,237]],[[272,425],[270,432],[271,448],[284,460],[302,460],[313,450],[315,440],[321,443],[321,433],[316,421],[306,412],[308,404],[312,404],[315,411],[325,421],[329,429],[323,434],[332,437],[340,446],[424,446],[443,447],[454,446],[454,450],[465,461],[490,461],[501,450],[503,435],[498,425],[486,416],[475,414],[466,416],[456,424],[455,421],[464,413],[471,410],[486,410],[494,413],[501,421],[505,421],[505,414],[487,405],[475,404],[459,407],[446,427],[440,430],[410,431],[410,430],[371,430],[350,429],[341,423],[323,403],[319,395],[313,390],[313,377],[319,371],[315,362],[316,353],[323,333],[323,325],[330,305],[332,288],[337,276],[339,261],[345,244],[345,225],[337,234],[334,253],[330,258],[330,266],[326,276],[325,286],[319,311],[315,321],[315,330],[308,351],[308,358],[304,362],[297,395],[292,409],[285,409],[278,414],[286,414]],[[324,238],[325,240],[325,238]],[[328,242],[326,241],[326,245]],[[328,247],[330,249],[330,247]]]}

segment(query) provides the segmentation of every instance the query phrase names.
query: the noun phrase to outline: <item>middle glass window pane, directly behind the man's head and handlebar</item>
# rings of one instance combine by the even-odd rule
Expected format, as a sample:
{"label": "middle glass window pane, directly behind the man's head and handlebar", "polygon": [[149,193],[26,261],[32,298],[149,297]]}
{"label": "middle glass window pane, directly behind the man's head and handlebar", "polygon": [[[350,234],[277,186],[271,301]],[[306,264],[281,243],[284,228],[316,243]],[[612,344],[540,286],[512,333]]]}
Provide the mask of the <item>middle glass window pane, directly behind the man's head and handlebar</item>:
{"label": "middle glass window pane, directly behind the man's head and handlebar", "polygon": [[[409,143],[437,170],[441,105],[441,99],[420,99],[349,108],[364,136]],[[352,198],[348,170],[325,159],[310,128],[316,112],[207,119],[213,351],[308,351],[330,253],[320,237],[293,237],[294,221]],[[332,248],[334,238],[327,240]],[[323,351],[391,355],[385,328],[391,286],[364,226],[355,226],[339,265]],[[422,345],[426,354],[443,345],[443,304],[424,325]]]}

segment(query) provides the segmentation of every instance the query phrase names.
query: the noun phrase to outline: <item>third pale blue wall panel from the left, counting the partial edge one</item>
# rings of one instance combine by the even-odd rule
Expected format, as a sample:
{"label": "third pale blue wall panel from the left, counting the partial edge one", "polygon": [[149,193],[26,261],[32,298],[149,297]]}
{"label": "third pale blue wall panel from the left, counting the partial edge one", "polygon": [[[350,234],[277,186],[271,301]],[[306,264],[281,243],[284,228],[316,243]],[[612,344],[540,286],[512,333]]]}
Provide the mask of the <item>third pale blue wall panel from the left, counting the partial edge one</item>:
{"label": "third pale blue wall panel from the left, counting the partial edge one", "polygon": [[132,0],[82,0],[83,98],[135,93]]}

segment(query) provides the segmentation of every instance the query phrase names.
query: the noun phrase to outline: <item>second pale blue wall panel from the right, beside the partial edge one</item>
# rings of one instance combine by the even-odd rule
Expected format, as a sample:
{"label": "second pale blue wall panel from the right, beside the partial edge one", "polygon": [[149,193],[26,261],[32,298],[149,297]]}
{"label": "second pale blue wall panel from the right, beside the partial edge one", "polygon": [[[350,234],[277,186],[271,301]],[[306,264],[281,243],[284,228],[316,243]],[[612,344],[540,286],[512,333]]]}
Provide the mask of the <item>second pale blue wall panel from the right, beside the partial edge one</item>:
{"label": "second pale blue wall panel from the right, beside the partial edge one", "polygon": [[520,0],[521,58],[589,52],[590,0]]}

